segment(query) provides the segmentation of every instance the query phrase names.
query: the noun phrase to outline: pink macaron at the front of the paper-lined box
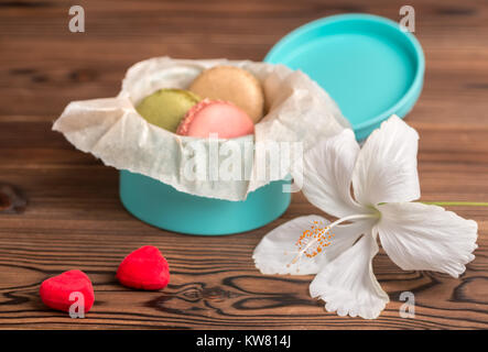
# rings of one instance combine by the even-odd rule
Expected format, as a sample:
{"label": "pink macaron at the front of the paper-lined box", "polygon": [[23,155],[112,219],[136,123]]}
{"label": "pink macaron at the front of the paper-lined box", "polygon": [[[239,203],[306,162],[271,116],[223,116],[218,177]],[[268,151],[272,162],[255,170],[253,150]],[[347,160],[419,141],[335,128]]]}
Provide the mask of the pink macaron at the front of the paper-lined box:
{"label": "pink macaron at the front of the paper-lined box", "polygon": [[177,134],[219,139],[234,139],[254,132],[251,118],[229,101],[204,99],[188,110],[176,131]]}

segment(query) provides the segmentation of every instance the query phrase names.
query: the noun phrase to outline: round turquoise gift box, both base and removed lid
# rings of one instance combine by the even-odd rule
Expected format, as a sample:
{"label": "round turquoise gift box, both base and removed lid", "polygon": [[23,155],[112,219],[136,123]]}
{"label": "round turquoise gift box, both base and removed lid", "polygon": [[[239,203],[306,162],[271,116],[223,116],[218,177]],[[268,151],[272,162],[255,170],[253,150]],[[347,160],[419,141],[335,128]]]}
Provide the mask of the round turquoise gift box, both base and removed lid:
{"label": "round turquoise gift box, both base and removed lid", "polygon": [[[280,40],[264,62],[300,69],[323,87],[358,140],[391,114],[403,118],[423,85],[424,56],[416,38],[391,20],[344,14],[307,23]],[[193,196],[140,174],[120,170],[120,199],[154,227],[219,235],[265,226],[289,207],[289,180],[273,182],[242,201]]]}

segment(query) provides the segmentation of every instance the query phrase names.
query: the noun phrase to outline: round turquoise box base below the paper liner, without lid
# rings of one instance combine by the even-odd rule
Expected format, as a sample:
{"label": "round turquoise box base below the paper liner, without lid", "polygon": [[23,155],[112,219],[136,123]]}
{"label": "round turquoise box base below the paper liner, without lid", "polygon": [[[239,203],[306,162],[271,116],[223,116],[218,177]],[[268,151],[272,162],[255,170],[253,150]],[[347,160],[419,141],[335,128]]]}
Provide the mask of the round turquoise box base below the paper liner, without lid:
{"label": "round turquoise box base below the paper liner, without lid", "polygon": [[192,196],[154,178],[120,170],[120,199],[126,209],[154,227],[187,234],[250,231],[279,218],[289,207],[288,180],[270,183],[242,201]]}

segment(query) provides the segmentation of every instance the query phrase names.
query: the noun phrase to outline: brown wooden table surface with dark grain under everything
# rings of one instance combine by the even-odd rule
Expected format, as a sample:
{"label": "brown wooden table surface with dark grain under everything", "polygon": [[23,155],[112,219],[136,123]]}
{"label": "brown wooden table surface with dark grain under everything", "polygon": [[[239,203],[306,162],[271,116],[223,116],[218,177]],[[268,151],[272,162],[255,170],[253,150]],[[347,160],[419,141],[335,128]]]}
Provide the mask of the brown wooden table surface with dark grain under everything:
{"label": "brown wooden table surface with dark grain under everything", "polygon": [[[118,173],[76,151],[52,122],[72,100],[112,97],[141,59],[260,61],[281,36],[326,15],[369,12],[399,20],[404,1],[78,1],[86,32],[68,31],[67,1],[0,1],[0,182],[29,198],[0,215],[0,328],[444,329],[488,328],[488,208],[451,207],[479,224],[476,260],[458,279],[403,272],[384,254],[373,267],[391,302],[377,320],[327,314],[308,296],[313,276],[264,276],[251,254],[263,234],[319,213],[302,195],[273,223],[230,237],[188,237],[132,218]],[[426,56],[425,86],[406,121],[417,129],[422,200],[488,201],[488,3],[410,1]],[[121,287],[120,261],[144,244],[167,257],[162,292]],[[39,286],[79,268],[94,282],[86,319],[47,309]],[[399,315],[415,294],[415,318]]]}

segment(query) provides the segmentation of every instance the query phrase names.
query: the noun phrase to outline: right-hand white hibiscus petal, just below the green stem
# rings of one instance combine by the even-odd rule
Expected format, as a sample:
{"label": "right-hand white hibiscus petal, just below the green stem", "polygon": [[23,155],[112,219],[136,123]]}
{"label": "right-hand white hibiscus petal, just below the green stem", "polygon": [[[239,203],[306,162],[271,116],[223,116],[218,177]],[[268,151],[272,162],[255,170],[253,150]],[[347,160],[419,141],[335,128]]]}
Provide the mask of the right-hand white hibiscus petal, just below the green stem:
{"label": "right-hand white hibiscus petal, just below the green stem", "polygon": [[454,277],[475,258],[478,226],[452,211],[419,202],[379,206],[381,244],[401,268],[435,271]]}

